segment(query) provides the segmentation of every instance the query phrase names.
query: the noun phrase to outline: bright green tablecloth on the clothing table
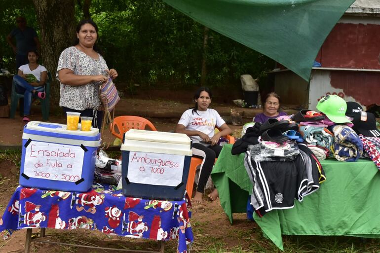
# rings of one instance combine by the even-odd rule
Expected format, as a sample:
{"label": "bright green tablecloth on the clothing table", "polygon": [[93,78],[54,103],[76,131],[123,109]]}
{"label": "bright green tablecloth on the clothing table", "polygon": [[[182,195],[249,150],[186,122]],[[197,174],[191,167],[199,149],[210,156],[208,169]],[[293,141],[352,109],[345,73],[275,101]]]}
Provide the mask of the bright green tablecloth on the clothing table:
{"label": "bright green tablecloth on the clothing table", "polygon": [[[252,184],[244,154],[231,155],[225,145],[211,174],[220,201],[232,222],[233,213],[246,212]],[[274,210],[255,221],[283,250],[281,235],[348,235],[380,238],[380,174],[370,160],[321,161],[327,180],[315,193],[295,201],[295,207]]]}

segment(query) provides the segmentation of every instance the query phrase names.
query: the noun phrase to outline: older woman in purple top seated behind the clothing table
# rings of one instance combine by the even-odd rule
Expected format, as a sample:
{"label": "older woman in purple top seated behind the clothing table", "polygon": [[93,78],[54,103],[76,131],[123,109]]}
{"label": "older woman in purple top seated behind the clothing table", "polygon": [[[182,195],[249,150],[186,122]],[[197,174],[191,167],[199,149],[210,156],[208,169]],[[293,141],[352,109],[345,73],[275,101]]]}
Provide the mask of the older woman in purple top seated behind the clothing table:
{"label": "older woman in purple top seated behind the clothing table", "polygon": [[268,93],[263,102],[263,112],[257,114],[254,117],[253,122],[264,123],[268,120],[268,118],[277,118],[279,116],[287,115],[286,112],[280,111],[280,96],[278,96],[275,92]]}

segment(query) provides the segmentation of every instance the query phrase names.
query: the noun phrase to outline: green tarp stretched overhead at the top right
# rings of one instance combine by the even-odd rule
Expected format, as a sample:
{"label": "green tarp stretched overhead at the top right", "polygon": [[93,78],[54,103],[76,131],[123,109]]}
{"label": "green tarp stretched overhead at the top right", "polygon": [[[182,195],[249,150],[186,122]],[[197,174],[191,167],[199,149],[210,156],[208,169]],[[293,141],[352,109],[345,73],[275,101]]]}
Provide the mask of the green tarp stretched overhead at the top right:
{"label": "green tarp stretched overhead at the top right", "polygon": [[[281,63],[306,81],[323,41],[354,0],[163,0]],[[243,73],[242,73],[243,74]]]}

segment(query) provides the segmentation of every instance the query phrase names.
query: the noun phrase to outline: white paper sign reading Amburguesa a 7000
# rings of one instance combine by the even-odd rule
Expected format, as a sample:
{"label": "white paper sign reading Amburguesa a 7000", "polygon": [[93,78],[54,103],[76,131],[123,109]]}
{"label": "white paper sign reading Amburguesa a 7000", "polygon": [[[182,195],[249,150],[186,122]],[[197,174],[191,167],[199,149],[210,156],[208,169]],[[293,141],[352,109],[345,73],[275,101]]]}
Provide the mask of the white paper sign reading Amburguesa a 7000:
{"label": "white paper sign reading Amburguesa a 7000", "polygon": [[177,186],[184,161],[184,155],[130,151],[127,177],[133,183]]}

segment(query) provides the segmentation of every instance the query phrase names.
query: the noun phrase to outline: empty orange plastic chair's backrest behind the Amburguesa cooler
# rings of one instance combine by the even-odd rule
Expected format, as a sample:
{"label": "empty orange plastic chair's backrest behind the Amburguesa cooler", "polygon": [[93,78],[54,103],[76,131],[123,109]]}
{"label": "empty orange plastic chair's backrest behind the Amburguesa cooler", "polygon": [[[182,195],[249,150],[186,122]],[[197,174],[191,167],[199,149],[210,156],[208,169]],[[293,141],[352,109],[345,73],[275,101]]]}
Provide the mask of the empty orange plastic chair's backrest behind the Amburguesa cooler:
{"label": "empty orange plastic chair's backrest behind the Amburguesa cooler", "polygon": [[146,118],[139,116],[118,116],[114,118],[110,130],[115,137],[122,140],[125,132],[130,129],[145,130],[146,127],[149,127],[152,131],[157,131],[152,122]]}

